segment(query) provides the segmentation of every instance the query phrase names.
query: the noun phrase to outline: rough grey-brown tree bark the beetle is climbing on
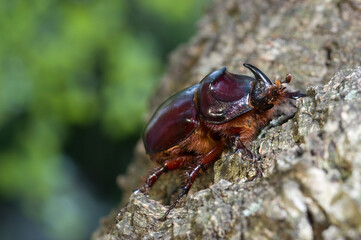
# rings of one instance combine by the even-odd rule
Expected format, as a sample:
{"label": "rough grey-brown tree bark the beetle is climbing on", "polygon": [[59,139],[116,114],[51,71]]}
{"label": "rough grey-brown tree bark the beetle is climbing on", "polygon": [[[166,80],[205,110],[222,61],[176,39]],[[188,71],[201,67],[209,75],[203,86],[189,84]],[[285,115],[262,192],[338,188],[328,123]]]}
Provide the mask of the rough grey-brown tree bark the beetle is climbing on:
{"label": "rough grey-brown tree bark the beetle is climbing on", "polygon": [[[119,184],[125,191],[93,239],[361,239],[361,5],[356,1],[217,0],[198,34],[170,59],[154,108],[171,93],[243,62],[307,89],[295,118],[255,140],[265,177],[229,149],[183,205],[158,220],[181,185],[161,177],[132,194],[152,165],[142,143]],[[130,197],[129,197],[130,196]]]}

